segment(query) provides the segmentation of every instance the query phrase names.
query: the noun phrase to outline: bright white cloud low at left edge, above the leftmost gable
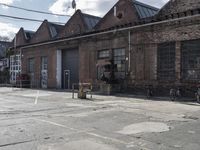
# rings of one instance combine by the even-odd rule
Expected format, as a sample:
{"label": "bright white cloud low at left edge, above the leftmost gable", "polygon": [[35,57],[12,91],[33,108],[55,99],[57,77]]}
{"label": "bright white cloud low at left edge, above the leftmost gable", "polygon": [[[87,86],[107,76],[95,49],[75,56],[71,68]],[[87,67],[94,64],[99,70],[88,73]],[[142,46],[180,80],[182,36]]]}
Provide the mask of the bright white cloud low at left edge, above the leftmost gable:
{"label": "bright white cloud low at left edge, above the leftmost gable", "polygon": [[10,40],[12,40],[15,36],[15,33],[18,31],[19,29],[17,27],[15,27],[14,25],[10,24],[10,23],[2,23],[0,22],[0,31],[1,34],[0,36],[6,36],[8,37]]}

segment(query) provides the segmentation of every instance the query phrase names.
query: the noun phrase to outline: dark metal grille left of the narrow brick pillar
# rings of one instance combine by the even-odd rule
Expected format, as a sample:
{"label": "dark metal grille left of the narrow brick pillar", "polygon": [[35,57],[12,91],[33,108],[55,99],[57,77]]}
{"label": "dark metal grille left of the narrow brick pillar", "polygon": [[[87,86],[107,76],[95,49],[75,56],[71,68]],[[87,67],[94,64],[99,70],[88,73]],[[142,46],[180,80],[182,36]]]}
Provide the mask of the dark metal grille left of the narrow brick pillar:
{"label": "dark metal grille left of the narrow brick pillar", "polygon": [[175,80],[175,42],[158,44],[158,80]]}

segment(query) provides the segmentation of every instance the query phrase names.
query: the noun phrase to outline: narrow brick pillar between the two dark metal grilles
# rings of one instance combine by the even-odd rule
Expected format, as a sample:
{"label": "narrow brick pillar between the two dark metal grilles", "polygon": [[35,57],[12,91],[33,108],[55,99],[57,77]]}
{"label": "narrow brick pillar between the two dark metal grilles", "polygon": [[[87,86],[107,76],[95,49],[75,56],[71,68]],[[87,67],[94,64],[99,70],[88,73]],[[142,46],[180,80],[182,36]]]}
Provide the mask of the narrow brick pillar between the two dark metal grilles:
{"label": "narrow brick pillar between the two dark metal grilles", "polygon": [[175,60],[176,82],[181,80],[181,42],[176,42],[176,60]]}

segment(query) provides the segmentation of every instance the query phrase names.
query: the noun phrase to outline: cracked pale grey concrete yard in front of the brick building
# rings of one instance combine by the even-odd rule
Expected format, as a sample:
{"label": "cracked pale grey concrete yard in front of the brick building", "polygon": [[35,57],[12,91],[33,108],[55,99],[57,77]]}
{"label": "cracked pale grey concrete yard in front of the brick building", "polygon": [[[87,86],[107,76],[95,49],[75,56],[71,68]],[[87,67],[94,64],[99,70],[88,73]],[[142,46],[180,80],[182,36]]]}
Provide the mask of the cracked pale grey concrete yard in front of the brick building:
{"label": "cracked pale grey concrete yard in front of the brick building", "polygon": [[200,106],[0,88],[0,150],[199,150]]}

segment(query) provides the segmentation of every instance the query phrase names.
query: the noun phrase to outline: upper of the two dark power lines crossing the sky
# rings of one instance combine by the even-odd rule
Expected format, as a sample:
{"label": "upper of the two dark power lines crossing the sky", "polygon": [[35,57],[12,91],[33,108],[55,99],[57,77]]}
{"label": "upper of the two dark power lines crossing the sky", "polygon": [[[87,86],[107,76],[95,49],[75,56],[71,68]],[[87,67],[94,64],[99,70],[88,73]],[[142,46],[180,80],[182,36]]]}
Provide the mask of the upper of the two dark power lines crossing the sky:
{"label": "upper of the two dark power lines crossing the sky", "polygon": [[62,17],[71,17],[70,15],[63,15],[63,14],[57,14],[57,13],[50,13],[50,12],[45,12],[45,11],[39,11],[39,10],[34,10],[34,9],[27,9],[27,8],[23,8],[23,7],[18,7],[18,6],[13,6],[13,5],[8,5],[8,4],[4,4],[4,3],[0,3],[0,5],[6,6],[6,7],[11,7],[11,8],[15,8],[15,9],[20,9],[20,10],[25,10],[25,11],[29,11],[29,12],[35,12],[35,13],[40,13],[40,14],[46,14],[46,15],[55,15],[55,16],[62,16]]}

